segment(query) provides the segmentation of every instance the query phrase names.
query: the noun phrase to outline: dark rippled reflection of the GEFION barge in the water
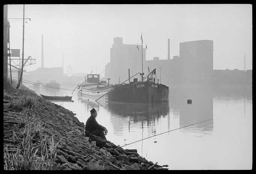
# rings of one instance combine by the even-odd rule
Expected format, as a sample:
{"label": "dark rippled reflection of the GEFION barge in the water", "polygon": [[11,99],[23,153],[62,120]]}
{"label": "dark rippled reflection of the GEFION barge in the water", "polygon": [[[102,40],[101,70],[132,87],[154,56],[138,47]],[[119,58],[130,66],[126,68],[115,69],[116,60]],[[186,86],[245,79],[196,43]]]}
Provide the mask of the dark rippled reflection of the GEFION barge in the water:
{"label": "dark rippled reflection of the GEFION barge in the water", "polygon": [[159,119],[168,117],[168,127],[170,127],[169,118],[169,102],[137,104],[137,103],[120,103],[120,102],[106,102],[98,100],[97,102],[87,99],[78,98],[81,103],[84,103],[85,111],[89,112],[92,108],[97,111],[103,107],[110,115],[110,122],[113,126],[115,134],[120,135],[125,128],[130,132],[131,127],[138,127],[143,130],[148,127],[150,134],[155,134],[156,122]]}

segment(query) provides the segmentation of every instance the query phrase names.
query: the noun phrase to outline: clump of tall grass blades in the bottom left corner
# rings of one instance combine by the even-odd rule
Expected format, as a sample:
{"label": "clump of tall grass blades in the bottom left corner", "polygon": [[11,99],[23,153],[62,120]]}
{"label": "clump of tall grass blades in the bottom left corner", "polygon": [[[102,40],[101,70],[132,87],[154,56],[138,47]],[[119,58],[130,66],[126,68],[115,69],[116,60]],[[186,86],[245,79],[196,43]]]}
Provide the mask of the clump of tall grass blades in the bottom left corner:
{"label": "clump of tall grass blades in the bottom left corner", "polygon": [[56,146],[53,137],[33,143],[33,135],[27,131],[20,148],[4,150],[4,170],[53,170]]}

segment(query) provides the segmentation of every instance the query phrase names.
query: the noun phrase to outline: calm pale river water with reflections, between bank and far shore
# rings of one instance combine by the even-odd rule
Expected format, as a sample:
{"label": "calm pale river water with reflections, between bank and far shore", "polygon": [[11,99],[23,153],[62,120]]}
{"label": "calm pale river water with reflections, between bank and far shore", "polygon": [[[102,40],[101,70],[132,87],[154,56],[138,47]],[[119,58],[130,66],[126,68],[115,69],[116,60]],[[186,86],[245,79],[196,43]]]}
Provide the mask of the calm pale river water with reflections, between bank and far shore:
{"label": "calm pale river water with reflections, between bank and far shore", "polygon": [[77,114],[80,122],[85,123],[95,108],[96,120],[108,129],[108,140],[123,149],[137,149],[140,156],[167,164],[169,170],[252,168],[250,87],[170,87],[169,102],[151,104],[95,102],[79,98],[76,90],[72,93],[75,86],[61,88],[31,87],[37,94],[73,96],[74,102],[51,102]]}

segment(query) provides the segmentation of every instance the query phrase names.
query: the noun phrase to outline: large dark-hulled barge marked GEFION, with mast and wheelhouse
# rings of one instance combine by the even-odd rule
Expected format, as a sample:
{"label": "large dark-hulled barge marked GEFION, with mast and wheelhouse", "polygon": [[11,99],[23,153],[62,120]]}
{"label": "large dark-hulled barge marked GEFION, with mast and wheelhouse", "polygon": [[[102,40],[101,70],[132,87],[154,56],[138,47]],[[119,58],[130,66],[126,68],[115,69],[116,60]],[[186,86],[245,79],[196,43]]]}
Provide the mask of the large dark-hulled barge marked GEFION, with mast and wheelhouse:
{"label": "large dark-hulled barge marked GEFION, with mast and wheelhouse", "polygon": [[[140,81],[138,81],[137,78],[134,78],[133,82],[109,85],[107,83],[100,83],[99,74],[88,74],[87,82],[78,84],[78,89],[80,89],[80,91],[77,95],[94,99],[95,101],[99,99],[129,103],[169,101],[169,87],[158,83],[158,80],[155,78],[156,69],[143,77],[144,73],[142,64],[142,73],[140,73],[140,75],[142,76]],[[130,80],[130,78],[128,80]]]}

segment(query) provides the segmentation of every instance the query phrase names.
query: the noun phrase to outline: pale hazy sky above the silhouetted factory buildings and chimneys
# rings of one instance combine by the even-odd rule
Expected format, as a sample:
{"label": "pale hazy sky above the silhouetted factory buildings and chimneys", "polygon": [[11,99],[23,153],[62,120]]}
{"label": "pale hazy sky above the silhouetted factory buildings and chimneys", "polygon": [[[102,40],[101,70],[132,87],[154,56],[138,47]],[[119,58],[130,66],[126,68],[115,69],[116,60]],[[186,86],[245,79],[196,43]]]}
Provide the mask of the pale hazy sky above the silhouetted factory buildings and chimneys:
{"label": "pale hazy sky above the silhouetted factory buildings and chimneys", "polygon": [[[11,19],[21,18],[21,19]],[[8,5],[10,47],[22,54],[23,4]],[[123,44],[147,44],[146,60],[179,56],[179,43],[213,40],[213,69],[252,69],[251,4],[25,4],[24,58],[41,67],[70,65],[73,73],[101,73],[110,62],[114,37]],[[134,53],[135,54],[135,53]],[[133,59],[133,58],[131,58]]]}

